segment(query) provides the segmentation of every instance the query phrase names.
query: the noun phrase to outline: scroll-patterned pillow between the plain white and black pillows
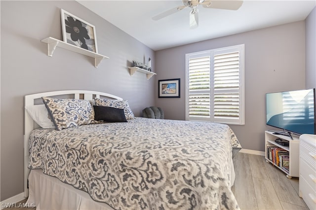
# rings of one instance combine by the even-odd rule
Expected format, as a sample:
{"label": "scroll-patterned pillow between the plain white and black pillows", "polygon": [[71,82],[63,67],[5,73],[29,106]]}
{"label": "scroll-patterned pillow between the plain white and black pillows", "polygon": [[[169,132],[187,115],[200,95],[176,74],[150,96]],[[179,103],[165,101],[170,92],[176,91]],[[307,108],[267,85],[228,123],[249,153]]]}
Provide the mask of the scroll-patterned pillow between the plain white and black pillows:
{"label": "scroll-patterned pillow between the plain white and black pillows", "polygon": [[57,130],[95,123],[94,110],[87,100],[42,97]]}

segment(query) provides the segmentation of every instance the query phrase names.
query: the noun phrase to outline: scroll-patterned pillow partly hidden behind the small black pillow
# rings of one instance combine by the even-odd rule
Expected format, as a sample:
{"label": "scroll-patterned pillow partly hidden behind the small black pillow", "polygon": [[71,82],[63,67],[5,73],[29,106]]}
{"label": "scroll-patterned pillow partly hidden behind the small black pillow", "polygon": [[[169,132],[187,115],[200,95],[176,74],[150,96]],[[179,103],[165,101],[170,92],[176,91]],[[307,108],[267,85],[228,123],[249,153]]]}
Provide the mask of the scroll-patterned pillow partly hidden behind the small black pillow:
{"label": "scroll-patterned pillow partly hidden behind the small black pillow", "polygon": [[135,118],[132,110],[129,107],[129,104],[128,104],[127,100],[120,101],[120,100],[95,98],[94,101],[95,101],[95,105],[110,106],[110,107],[115,107],[115,108],[123,108],[124,109],[125,118],[127,120]]}

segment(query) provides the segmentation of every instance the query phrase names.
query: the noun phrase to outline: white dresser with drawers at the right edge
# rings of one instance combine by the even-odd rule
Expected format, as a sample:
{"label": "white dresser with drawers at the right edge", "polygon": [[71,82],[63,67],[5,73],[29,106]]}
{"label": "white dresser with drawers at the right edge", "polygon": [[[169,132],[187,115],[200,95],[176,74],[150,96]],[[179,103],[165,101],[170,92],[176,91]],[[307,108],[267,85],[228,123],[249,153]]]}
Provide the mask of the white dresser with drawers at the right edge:
{"label": "white dresser with drawers at the right edge", "polygon": [[316,135],[300,136],[299,194],[310,210],[316,210]]}

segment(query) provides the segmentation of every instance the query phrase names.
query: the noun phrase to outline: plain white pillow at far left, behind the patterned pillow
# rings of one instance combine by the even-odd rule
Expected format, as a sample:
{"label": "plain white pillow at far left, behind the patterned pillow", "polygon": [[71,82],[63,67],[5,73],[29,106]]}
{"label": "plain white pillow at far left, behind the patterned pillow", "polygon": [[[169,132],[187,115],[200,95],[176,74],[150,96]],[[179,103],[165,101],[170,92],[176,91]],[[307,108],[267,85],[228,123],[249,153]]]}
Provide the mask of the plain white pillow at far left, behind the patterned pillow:
{"label": "plain white pillow at far left, behind the patterned pillow", "polygon": [[30,105],[25,106],[25,109],[32,117],[32,119],[44,129],[55,129],[53,121],[50,119],[47,108],[45,105]]}

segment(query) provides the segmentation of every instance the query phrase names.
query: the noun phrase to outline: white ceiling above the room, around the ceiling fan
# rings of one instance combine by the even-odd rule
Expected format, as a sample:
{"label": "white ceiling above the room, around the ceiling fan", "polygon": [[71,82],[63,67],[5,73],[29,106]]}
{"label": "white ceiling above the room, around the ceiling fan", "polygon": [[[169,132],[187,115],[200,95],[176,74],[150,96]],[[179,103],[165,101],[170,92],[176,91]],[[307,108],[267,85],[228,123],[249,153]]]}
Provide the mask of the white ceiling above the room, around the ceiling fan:
{"label": "white ceiling above the room, around the ceiling fan", "polygon": [[244,0],[238,10],[199,5],[199,26],[189,29],[185,8],[160,20],[152,17],[182,0],[78,0],[80,4],[153,50],[305,20],[316,0]]}

